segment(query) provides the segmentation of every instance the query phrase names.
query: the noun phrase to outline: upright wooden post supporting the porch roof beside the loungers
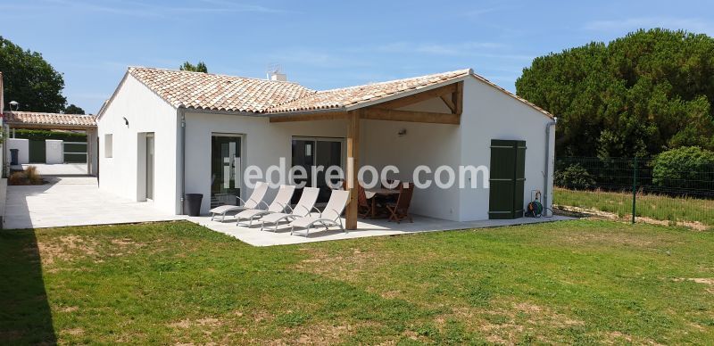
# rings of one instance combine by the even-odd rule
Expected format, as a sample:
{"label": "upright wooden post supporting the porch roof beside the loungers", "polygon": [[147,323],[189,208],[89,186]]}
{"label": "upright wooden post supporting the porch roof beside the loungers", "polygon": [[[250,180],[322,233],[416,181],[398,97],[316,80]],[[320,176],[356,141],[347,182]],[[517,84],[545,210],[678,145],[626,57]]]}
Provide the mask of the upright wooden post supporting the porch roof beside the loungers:
{"label": "upright wooden post supporting the porch roof beside the loungers", "polygon": [[[347,179],[350,202],[345,213],[345,228],[357,229],[357,172],[360,170],[360,115],[361,111],[350,111],[347,117]],[[352,172],[350,172],[352,166]],[[351,184],[350,184],[351,183]]]}

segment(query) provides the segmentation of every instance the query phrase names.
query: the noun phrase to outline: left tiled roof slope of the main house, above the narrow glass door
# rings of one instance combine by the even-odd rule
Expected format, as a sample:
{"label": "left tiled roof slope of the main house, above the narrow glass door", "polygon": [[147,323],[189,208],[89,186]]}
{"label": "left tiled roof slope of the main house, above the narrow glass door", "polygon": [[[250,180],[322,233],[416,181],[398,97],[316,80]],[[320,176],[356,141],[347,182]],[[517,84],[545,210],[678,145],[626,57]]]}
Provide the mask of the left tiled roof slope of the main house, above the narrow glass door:
{"label": "left tiled roof slope of the main house, above the narrow glass door", "polygon": [[129,74],[176,108],[262,112],[315,91],[296,83],[130,67]]}

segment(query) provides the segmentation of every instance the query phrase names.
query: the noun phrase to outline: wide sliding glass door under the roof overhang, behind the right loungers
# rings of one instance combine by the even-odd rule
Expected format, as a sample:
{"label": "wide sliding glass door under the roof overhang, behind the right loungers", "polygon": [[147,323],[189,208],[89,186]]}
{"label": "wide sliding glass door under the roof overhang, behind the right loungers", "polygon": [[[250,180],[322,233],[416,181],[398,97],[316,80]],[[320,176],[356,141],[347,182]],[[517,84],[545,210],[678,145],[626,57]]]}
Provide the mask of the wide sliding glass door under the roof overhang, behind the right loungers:
{"label": "wide sliding glass door under the roof overhang, behind the right loungers", "polygon": [[[342,138],[308,138],[293,137],[293,166],[303,166],[307,171],[307,178],[304,180],[295,179],[295,184],[305,182],[306,186],[319,187],[320,195],[318,202],[328,202],[331,189],[325,181],[325,172],[317,174],[317,185],[312,184],[312,167],[322,166],[327,169],[330,166],[338,166],[344,169],[345,148]],[[332,184],[338,184],[339,179],[333,179]],[[302,192],[294,195],[293,202],[297,202]]]}

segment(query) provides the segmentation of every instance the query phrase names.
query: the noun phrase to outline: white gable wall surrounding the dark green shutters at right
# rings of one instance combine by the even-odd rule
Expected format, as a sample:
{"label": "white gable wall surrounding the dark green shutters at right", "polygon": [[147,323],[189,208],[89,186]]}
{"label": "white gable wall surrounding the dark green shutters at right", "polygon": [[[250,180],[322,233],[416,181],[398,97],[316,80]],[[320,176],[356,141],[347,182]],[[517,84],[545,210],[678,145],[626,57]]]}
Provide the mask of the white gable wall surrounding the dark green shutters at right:
{"label": "white gable wall surrounding the dark green shutters at right", "polygon": [[[488,86],[474,78],[467,78],[463,86],[461,115],[461,164],[491,164],[491,140],[526,141],[526,183],[524,202],[531,202],[531,190],[544,192],[545,127],[552,119],[526,103]],[[554,128],[551,136],[548,191],[552,195],[552,162],[554,157]],[[480,187],[479,177],[479,187]],[[488,218],[489,192],[486,189],[463,189],[460,199],[461,221]],[[525,205],[524,205],[525,207]],[[548,208],[552,197],[548,197]]]}

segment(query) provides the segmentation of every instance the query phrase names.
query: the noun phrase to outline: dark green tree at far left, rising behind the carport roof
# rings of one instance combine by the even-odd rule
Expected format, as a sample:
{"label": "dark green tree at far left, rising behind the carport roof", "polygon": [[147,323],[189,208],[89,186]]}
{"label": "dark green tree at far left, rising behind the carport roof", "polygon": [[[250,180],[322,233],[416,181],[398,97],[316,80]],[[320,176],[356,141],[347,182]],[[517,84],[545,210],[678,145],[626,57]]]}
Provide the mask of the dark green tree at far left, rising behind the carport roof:
{"label": "dark green tree at far left, rising behind the carport roof", "polygon": [[[4,102],[17,101],[20,111],[60,112],[67,99],[62,96],[62,74],[42,54],[22,50],[0,37],[0,71],[3,72]],[[5,104],[5,109],[9,105]]]}

